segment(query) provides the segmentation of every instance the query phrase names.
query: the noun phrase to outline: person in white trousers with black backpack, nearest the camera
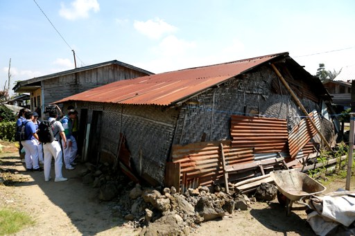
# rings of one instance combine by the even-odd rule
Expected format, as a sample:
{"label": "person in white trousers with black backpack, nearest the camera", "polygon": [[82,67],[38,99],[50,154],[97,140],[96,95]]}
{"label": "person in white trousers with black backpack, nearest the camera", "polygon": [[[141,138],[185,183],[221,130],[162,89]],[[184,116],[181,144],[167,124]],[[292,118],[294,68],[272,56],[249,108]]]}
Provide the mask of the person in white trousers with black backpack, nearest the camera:
{"label": "person in white trousers with black backpack, nearest the camera", "polygon": [[55,171],[55,182],[67,181],[67,178],[62,176],[62,148],[60,147],[60,138],[62,138],[63,149],[67,148],[67,138],[64,134],[64,128],[62,123],[56,118],[58,117],[58,111],[53,109],[49,111],[49,122],[55,120],[52,125],[52,131],[54,139],[52,143],[43,143],[44,152],[44,181],[48,182],[51,180],[51,162],[52,156],[54,157],[54,171]]}

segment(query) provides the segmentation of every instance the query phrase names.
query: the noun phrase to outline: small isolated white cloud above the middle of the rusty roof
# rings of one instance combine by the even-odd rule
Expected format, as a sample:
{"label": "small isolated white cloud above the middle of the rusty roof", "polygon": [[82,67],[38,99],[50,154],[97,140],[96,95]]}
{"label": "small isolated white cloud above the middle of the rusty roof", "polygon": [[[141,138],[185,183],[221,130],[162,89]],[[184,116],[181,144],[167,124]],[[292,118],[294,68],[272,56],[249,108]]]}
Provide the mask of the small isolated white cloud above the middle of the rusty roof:
{"label": "small isolated white cloud above the middle of the rusty roof", "polygon": [[174,33],[178,30],[175,26],[167,24],[164,20],[155,18],[148,21],[135,21],[133,24],[139,33],[150,37],[151,39],[159,39],[166,33]]}

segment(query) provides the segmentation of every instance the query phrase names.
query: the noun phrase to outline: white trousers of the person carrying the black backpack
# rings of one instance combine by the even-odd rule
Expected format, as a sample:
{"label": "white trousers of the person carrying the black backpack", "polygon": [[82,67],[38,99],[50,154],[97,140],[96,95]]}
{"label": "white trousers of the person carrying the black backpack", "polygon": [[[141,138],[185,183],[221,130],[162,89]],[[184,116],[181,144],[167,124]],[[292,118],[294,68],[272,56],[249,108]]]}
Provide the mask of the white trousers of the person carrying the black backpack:
{"label": "white trousers of the person carrying the black backpack", "polygon": [[55,178],[62,178],[62,148],[58,141],[43,144],[44,152],[44,178],[49,179],[51,176],[52,156],[54,157]]}

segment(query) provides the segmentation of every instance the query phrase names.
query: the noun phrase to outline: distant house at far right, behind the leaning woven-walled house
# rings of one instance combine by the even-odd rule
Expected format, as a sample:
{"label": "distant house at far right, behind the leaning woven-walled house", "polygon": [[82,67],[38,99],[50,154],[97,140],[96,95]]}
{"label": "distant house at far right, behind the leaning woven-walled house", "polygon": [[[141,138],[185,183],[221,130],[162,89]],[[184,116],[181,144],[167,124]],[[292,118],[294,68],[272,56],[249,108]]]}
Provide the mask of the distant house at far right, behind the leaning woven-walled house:
{"label": "distant house at far right, behind the leaning woven-walled house", "polygon": [[340,113],[351,107],[352,102],[352,84],[341,80],[324,80],[324,87],[332,96],[336,113]]}

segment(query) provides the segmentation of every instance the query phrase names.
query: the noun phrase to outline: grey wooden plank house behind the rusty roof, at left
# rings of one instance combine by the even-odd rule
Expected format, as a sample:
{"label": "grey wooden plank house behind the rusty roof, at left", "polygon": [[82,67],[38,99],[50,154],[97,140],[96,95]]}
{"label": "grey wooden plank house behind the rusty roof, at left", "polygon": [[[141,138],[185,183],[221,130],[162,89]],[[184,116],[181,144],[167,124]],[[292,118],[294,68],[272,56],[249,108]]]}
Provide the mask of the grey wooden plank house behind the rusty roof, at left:
{"label": "grey wooden plank house behind the rusty roof, at left", "polygon": [[44,111],[45,105],[73,94],[111,82],[152,74],[130,64],[113,60],[17,82],[13,90],[16,93],[30,93],[31,110]]}

